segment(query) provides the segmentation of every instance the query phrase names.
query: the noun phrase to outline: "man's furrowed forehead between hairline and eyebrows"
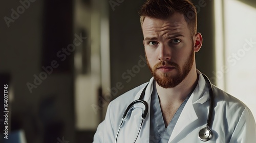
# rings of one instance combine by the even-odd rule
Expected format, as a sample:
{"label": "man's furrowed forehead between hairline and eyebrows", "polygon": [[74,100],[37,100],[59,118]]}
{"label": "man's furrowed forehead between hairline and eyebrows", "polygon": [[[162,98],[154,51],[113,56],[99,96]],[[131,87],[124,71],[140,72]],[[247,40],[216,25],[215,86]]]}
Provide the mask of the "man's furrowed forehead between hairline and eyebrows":
{"label": "man's furrowed forehead between hairline and eyebrows", "polygon": [[142,25],[143,35],[188,33],[189,29],[183,14],[175,13],[168,19],[145,17]]}

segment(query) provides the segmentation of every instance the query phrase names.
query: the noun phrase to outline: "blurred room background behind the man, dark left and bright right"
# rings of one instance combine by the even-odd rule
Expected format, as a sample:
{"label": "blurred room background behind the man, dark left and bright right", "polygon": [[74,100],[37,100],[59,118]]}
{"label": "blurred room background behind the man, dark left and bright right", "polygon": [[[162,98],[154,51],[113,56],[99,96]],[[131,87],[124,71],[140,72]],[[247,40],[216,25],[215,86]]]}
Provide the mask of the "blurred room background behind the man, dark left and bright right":
{"label": "blurred room background behind the man, dark left and bright right", "polygon": [[[239,89],[244,85],[241,93],[232,94],[242,100],[244,94],[241,94],[245,93],[242,101],[256,114],[256,107],[249,103],[255,97],[255,82],[245,84],[248,80],[255,81],[255,77],[241,76],[247,75],[241,74],[245,70],[231,73],[245,67],[251,67],[250,75],[255,71],[256,60],[252,57],[256,53],[256,35],[248,31],[236,33],[237,29],[243,32],[249,26],[250,32],[255,30],[252,26],[256,19],[255,1],[192,2],[198,10],[198,32],[203,35],[203,46],[196,53],[197,68],[223,90],[232,92],[235,90],[231,87]],[[252,9],[247,22],[236,25],[236,20],[241,20],[232,15],[232,10],[227,12],[229,2]],[[8,84],[9,134],[22,130],[28,143],[92,142],[109,102],[151,78],[138,16],[143,3],[135,0],[2,2],[0,80]],[[234,21],[226,25],[232,20],[227,20],[228,17],[234,17]],[[234,27],[231,29],[230,25]],[[227,44],[232,43],[232,39],[228,40],[230,31],[234,31],[231,35],[240,35],[240,39],[233,39],[240,44]],[[239,52],[245,39],[252,41],[247,43],[251,46],[249,52],[245,51],[250,55]],[[241,60],[236,60],[233,66],[233,62],[228,62],[232,53],[249,58],[240,56]],[[241,68],[245,65],[242,62],[250,64]],[[223,66],[230,70],[227,72]],[[236,79],[230,78],[236,74],[241,76],[240,81],[228,80]],[[249,93],[245,92],[249,89]],[[0,116],[1,134],[4,120]]]}

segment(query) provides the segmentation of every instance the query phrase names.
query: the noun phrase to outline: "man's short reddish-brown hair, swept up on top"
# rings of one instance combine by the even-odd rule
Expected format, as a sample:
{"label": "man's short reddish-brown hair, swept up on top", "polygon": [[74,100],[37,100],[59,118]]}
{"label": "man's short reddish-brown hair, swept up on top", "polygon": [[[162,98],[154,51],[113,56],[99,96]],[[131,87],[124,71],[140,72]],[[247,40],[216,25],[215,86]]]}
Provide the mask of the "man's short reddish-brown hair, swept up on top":
{"label": "man's short reddish-brown hair, swept up on top", "polygon": [[184,15],[191,36],[194,36],[197,32],[197,10],[189,0],[147,0],[139,11],[141,27],[146,16],[167,19],[177,12]]}

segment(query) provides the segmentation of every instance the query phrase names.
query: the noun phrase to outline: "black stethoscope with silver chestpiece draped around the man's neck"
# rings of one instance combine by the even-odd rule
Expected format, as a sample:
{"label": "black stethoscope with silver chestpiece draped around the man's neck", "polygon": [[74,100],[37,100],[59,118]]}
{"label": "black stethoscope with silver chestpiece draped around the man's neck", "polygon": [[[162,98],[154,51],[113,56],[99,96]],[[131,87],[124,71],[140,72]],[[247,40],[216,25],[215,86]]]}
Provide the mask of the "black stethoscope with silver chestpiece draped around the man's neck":
{"label": "black stethoscope with silver chestpiece draped around the man's neck", "polygon": [[[209,80],[204,74],[202,74],[202,75],[203,75],[203,77],[204,77],[204,79],[205,79],[205,82],[206,82],[206,84],[207,84],[207,86],[208,86],[208,89],[209,89],[209,94],[210,94],[210,106],[209,106],[209,112],[208,112],[208,119],[207,119],[206,127],[203,128],[203,129],[201,129],[201,130],[199,131],[199,133],[198,133],[198,138],[199,138],[200,140],[202,140],[202,141],[208,141],[208,140],[211,139],[211,137],[212,137],[212,131],[210,130],[209,127],[210,127],[210,124],[211,124],[212,108],[213,108],[213,106],[214,106],[214,93],[213,93],[213,91],[212,91],[212,86],[211,86],[210,80]],[[148,84],[147,84],[147,85],[148,85]],[[121,127],[122,127],[122,124],[123,124],[123,122],[124,122],[124,118],[125,118],[125,116],[127,115],[127,112],[129,112],[129,111],[133,108],[132,106],[135,105],[136,103],[142,103],[142,104],[144,104],[144,106],[145,106],[145,110],[144,110],[144,112],[143,112],[142,115],[141,115],[140,128],[139,128],[139,131],[138,131],[138,133],[137,133],[137,135],[136,135],[136,138],[134,139],[134,142],[137,140],[138,135],[139,135],[139,133],[140,133],[140,129],[141,129],[142,124],[143,124],[143,121],[145,120],[146,115],[147,115],[147,112],[148,112],[148,104],[147,104],[146,101],[143,100],[143,98],[144,98],[144,96],[145,96],[145,90],[146,90],[147,85],[144,87],[143,91],[141,92],[140,98],[139,98],[138,100],[133,101],[133,102],[126,108],[126,110],[124,111],[123,116],[122,116],[122,121],[121,121],[121,123],[120,123],[120,125],[119,125],[119,129],[118,129],[117,134],[116,134],[115,143],[117,142],[117,137],[118,137],[119,131],[120,131]]]}

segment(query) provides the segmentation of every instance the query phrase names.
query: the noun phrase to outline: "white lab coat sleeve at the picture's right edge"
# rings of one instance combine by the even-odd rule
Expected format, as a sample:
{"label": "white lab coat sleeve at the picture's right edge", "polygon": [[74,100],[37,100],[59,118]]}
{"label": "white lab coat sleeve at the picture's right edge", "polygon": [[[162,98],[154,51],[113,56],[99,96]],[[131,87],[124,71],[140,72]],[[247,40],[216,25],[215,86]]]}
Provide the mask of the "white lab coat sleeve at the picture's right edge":
{"label": "white lab coat sleeve at the picture's right edge", "polygon": [[251,111],[246,107],[229,142],[255,143],[256,125]]}

